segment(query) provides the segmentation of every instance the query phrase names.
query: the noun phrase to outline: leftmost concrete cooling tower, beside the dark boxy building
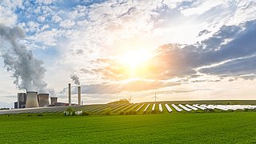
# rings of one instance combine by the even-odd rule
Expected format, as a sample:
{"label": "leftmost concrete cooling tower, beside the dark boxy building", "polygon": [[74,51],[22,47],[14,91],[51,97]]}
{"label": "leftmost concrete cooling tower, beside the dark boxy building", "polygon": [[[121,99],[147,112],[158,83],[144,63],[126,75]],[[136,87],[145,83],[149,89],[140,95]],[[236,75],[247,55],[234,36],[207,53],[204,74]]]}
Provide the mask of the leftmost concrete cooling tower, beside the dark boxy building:
{"label": "leftmost concrete cooling tower, beside the dark boxy building", "polygon": [[26,92],[26,108],[38,107],[38,92],[27,91]]}

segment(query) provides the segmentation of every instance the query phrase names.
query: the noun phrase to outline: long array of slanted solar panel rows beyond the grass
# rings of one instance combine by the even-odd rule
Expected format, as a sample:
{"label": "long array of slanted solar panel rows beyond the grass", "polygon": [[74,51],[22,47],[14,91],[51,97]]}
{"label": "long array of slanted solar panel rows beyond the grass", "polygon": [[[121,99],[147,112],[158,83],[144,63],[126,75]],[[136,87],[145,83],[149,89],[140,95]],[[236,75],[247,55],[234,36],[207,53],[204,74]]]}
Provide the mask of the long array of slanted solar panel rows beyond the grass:
{"label": "long array of slanted solar panel rows beyond the grass", "polygon": [[177,113],[190,113],[193,111],[202,112],[205,110],[256,110],[256,106],[251,105],[206,105],[206,104],[168,104],[165,103],[134,103],[134,104],[98,104],[98,105],[83,105],[83,106],[50,106],[50,107],[38,107],[38,108],[26,108],[15,110],[0,110],[0,114],[42,114],[42,113],[55,113],[62,114],[68,107],[72,107],[74,111],[85,111],[89,114],[103,114],[105,110],[110,110],[113,114],[119,114],[121,112],[134,111],[137,114],[150,113],[151,111],[158,110],[161,112],[177,112]]}

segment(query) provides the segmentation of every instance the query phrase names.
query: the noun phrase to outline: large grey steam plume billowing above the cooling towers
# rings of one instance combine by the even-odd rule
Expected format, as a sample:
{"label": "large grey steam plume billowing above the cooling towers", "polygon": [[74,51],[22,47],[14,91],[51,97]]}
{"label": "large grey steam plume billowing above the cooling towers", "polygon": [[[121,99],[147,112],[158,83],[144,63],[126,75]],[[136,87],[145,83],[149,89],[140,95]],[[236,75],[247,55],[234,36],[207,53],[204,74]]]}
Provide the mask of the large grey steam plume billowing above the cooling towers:
{"label": "large grey steam plume billowing above the cooling towers", "polygon": [[14,84],[20,90],[38,90],[39,93],[46,92],[46,82],[43,80],[46,69],[42,66],[42,61],[34,58],[32,51],[26,46],[19,44],[18,40],[25,38],[26,34],[18,27],[7,27],[0,24],[0,42],[2,58],[5,68],[15,78]]}

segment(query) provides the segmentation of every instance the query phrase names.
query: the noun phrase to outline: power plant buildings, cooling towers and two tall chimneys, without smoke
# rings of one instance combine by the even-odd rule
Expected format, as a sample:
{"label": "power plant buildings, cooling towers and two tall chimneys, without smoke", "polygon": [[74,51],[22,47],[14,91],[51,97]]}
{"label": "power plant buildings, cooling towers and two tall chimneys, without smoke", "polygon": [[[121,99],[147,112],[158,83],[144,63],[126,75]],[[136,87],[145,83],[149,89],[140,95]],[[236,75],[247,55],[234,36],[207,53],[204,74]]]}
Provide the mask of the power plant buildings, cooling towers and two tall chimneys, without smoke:
{"label": "power plant buildings, cooling towers and two tall chimneys, without smoke", "polygon": [[[75,106],[81,105],[81,86],[78,86],[78,104],[72,103],[71,84],[68,84],[68,103],[58,102],[57,97],[50,97],[50,94],[38,94],[37,91],[18,93],[18,101],[14,102],[14,109],[48,107],[48,106]],[[49,102],[50,99],[50,102]]]}

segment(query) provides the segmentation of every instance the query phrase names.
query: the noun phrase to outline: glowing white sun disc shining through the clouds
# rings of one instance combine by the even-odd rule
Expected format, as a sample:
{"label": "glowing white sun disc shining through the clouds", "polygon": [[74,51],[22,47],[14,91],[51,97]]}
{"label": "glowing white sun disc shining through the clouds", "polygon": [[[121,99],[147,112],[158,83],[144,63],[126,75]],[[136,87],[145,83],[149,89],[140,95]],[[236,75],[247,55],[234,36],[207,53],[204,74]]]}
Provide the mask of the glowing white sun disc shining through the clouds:
{"label": "glowing white sun disc shining through the clouds", "polygon": [[144,62],[152,57],[152,54],[148,50],[133,50],[122,54],[119,61],[123,65],[128,66],[130,69],[134,70],[138,66],[142,66]]}

